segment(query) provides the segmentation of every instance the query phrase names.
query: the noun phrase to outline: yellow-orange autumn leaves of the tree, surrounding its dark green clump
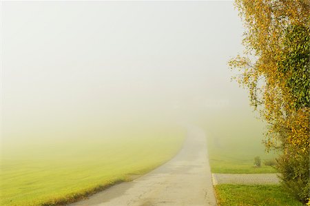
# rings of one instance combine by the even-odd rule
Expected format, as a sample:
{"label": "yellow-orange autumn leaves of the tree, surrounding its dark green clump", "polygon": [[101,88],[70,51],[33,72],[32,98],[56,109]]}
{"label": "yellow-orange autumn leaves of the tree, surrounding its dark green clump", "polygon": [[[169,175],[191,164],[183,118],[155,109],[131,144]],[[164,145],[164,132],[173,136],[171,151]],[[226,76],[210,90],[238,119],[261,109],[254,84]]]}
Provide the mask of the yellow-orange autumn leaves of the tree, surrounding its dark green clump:
{"label": "yellow-orange autumn leaves of the tree, surrounding its dark green clump", "polygon": [[287,87],[291,73],[279,71],[278,62],[288,25],[309,27],[310,1],[236,0],[235,5],[247,29],[243,41],[246,56],[236,56],[229,66],[242,71],[236,80],[249,88],[251,105],[270,125],[267,149],[274,146],[273,138],[280,138],[296,147],[296,152],[307,152],[309,105],[298,110],[293,106],[296,100]]}

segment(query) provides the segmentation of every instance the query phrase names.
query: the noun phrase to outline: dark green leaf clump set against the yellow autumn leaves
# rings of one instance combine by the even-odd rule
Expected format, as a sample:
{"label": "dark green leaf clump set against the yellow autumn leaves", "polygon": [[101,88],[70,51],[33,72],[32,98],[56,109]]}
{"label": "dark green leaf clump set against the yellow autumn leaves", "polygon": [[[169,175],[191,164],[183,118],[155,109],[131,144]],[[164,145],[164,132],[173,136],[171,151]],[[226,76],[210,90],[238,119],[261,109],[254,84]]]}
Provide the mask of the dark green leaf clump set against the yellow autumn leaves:
{"label": "dark green leaf clump set against the yellow autumn leaves", "polygon": [[292,95],[296,110],[309,107],[310,37],[309,28],[289,25],[285,30],[282,52],[278,55],[278,70],[285,74],[285,85]]}

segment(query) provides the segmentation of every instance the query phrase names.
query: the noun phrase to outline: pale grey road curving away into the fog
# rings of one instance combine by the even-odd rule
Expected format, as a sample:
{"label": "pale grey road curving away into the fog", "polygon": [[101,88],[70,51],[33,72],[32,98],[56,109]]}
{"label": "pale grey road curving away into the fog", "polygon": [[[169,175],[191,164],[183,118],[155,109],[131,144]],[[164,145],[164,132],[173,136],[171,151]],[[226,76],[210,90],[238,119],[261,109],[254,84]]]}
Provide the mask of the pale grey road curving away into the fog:
{"label": "pale grey road curving away into the fog", "polygon": [[188,127],[183,149],[171,161],[73,205],[216,205],[204,132]]}

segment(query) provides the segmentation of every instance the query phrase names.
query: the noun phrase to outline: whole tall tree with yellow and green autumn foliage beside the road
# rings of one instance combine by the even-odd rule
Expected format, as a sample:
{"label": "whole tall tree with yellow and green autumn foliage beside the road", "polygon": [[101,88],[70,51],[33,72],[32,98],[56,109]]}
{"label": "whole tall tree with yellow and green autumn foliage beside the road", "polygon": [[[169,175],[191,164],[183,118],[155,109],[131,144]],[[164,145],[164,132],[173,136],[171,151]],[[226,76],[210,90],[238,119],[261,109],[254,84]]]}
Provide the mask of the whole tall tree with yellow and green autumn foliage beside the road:
{"label": "whole tall tree with yellow and green autumn foliage beside the road", "polygon": [[236,0],[247,29],[245,55],[229,61],[242,71],[251,105],[269,127],[267,150],[280,151],[282,184],[309,201],[310,0]]}

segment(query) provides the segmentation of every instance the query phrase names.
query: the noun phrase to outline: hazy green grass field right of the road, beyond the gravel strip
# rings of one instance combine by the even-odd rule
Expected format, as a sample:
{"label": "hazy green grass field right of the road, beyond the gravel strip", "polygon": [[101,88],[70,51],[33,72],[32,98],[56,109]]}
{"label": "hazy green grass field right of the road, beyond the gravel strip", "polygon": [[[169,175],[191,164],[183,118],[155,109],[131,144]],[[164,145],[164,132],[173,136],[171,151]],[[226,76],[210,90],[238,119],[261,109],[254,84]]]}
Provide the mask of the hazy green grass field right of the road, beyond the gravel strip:
{"label": "hazy green grass field right of the road, beyond the gravel strip", "polygon": [[[198,125],[205,129],[209,162],[213,173],[274,173],[276,169],[264,161],[276,158],[265,152],[264,124],[251,112],[223,111],[206,114]],[[260,156],[261,167],[255,167],[254,158]]]}

